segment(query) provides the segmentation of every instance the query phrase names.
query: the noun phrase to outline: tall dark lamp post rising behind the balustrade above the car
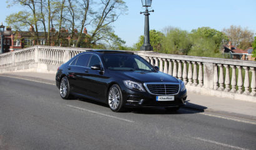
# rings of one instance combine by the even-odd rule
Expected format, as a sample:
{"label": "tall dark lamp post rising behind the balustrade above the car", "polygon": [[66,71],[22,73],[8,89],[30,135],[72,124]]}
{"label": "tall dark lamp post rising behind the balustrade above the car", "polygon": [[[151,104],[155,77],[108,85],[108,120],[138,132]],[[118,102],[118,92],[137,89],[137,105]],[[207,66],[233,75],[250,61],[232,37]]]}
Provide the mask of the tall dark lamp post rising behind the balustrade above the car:
{"label": "tall dark lamp post rising behind the balustrade above the car", "polygon": [[142,6],[146,8],[146,11],[140,12],[140,14],[143,13],[145,15],[144,42],[140,47],[140,51],[153,51],[153,47],[150,44],[150,23],[148,18],[150,15],[149,12],[154,12],[154,10],[148,11],[148,7],[151,6],[151,2],[152,0],[141,0]]}

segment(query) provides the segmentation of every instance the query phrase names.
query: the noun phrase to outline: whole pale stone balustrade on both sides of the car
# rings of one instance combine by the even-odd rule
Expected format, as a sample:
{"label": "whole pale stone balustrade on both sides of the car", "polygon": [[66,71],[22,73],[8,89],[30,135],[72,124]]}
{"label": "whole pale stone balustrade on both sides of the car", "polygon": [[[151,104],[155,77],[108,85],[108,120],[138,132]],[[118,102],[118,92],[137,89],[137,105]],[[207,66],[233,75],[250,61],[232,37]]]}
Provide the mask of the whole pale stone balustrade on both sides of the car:
{"label": "whole pale stone balustrade on both sides of the car", "polygon": [[[88,49],[33,46],[0,54],[0,73],[37,71],[56,73],[70,58]],[[159,66],[160,71],[182,79],[188,91],[256,102],[256,62],[180,56],[134,51]]]}

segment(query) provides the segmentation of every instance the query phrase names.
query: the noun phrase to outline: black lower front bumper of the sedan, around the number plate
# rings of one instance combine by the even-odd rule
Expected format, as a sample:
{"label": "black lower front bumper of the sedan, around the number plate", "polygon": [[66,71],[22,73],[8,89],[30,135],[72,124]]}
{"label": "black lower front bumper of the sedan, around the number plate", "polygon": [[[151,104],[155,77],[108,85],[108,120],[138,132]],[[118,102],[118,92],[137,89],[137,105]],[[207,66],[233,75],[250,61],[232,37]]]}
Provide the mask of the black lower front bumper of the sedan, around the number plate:
{"label": "black lower front bumper of the sedan, around the number plate", "polygon": [[175,96],[174,101],[156,101],[156,96],[148,92],[133,91],[130,89],[123,90],[123,99],[126,101],[125,107],[136,108],[136,107],[151,107],[151,106],[183,106],[187,99],[187,90],[180,91]]}

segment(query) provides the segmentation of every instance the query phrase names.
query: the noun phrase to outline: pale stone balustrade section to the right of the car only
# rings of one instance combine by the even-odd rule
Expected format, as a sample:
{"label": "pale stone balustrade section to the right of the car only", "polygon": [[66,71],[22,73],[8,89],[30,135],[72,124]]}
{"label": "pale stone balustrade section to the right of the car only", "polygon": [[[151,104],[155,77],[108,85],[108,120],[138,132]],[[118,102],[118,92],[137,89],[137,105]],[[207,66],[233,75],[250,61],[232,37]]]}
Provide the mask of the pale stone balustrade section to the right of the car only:
{"label": "pale stone balustrade section to the right of the car only", "polygon": [[159,61],[155,66],[160,71],[182,79],[191,91],[233,99],[253,96],[251,100],[256,101],[256,62],[141,51],[136,54]]}

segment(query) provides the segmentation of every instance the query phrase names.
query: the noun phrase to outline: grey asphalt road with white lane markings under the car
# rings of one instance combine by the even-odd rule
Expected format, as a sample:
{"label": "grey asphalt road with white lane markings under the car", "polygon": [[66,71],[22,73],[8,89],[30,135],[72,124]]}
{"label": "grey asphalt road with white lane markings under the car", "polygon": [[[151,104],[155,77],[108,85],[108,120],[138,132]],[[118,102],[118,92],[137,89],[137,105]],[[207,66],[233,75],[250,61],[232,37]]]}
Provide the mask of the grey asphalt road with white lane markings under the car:
{"label": "grey asphalt road with white lane markings under the car", "polygon": [[0,149],[256,149],[256,124],[162,108],[113,113],[53,84],[0,76]]}

